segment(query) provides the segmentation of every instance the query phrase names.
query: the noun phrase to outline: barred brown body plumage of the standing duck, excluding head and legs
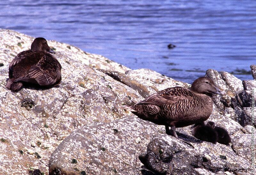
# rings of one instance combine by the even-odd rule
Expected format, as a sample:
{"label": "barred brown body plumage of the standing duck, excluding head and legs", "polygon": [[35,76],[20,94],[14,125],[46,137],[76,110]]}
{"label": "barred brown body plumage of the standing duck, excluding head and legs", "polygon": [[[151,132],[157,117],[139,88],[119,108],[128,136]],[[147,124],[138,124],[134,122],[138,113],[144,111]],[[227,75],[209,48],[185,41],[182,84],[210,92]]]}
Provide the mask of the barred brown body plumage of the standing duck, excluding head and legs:
{"label": "barred brown body plumage of the standing duck, excluding head and legs", "polygon": [[144,120],[179,128],[207,120],[212,113],[212,105],[207,95],[196,95],[187,88],[172,87],[130,108],[136,111],[132,113]]}

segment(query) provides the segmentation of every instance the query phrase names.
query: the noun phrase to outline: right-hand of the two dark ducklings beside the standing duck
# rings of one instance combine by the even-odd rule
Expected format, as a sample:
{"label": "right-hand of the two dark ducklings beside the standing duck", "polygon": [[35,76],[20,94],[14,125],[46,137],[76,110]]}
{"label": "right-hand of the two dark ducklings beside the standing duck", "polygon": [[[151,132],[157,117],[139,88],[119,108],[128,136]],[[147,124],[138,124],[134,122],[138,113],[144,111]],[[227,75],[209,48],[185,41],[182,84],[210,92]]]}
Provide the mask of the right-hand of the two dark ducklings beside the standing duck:
{"label": "right-hand of the two dark ducklings beside the standing duck", "polygon": [[231,138],[225,128],[215,126],[215,123],[213,121],[208,121],[206,126],[212,127],[214,131],[217,132],[217,142],[224,145],[228,145],[229,143],[231,143]]}

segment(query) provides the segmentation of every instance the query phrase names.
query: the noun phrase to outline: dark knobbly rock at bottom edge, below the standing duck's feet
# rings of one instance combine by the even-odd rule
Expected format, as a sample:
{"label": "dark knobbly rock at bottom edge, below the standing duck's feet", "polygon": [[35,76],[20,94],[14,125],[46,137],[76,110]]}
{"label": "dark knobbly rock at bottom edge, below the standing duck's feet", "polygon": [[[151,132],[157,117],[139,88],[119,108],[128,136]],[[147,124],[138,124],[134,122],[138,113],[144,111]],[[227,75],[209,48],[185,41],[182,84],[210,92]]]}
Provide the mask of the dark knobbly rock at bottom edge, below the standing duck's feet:
{"label": "dark knobbly rock at bottom edge, below the standing duck's feet", "polygon": [[210,169],[211,165],[206,157],[162,138],[153,138],[147,146],[147,153],[139,158],[149,171],[160,174],[197,174],[195,168]]}

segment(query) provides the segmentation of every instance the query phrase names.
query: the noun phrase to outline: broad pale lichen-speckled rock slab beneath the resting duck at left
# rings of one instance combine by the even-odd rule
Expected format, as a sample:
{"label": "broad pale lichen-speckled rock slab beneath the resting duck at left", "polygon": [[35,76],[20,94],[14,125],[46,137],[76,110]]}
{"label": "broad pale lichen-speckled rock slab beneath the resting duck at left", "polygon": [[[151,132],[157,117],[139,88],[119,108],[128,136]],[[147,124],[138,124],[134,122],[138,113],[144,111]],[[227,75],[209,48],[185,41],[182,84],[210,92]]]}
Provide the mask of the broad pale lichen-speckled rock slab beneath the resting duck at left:
{"label": "broad pale lichen-speckled rock slab beneath the resting duck at left", "polygon": [[[47,172],[50,154],[72,131],[127,116],[118,106],[143,99],[101,71],[60,52],[55,56],[62,65],[62,81],[53,88],[23,88],[13,93],[5,88],[8,65],[0,68],[0,130],[6,139],[1,142],[0,174],[26,174],[29,167]],[[31,142],[39,145],[32,147]]]}

